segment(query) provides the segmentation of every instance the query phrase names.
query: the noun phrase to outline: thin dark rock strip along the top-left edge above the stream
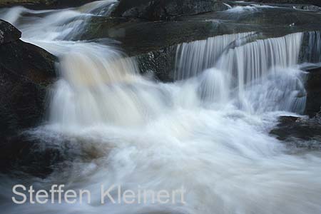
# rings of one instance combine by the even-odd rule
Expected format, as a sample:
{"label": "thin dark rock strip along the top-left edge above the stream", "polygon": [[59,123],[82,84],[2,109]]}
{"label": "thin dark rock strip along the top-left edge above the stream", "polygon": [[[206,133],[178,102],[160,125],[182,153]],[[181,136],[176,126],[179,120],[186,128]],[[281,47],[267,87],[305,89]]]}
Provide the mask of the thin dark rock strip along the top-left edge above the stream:
{"label": "thin dark rock strip along the top-left edge above the stream", "polygon": [[95,0],[0,0],[0,7],[26,6],[29,9],[58,9],[81,6]]}

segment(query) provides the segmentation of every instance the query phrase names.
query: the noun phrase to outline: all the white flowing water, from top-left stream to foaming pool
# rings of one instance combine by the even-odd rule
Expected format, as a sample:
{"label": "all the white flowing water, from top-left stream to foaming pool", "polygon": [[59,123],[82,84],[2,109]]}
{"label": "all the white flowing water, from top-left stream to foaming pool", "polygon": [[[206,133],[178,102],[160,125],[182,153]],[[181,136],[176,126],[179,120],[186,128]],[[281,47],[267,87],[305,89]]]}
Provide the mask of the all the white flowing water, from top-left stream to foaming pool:
{"label": "all the white flowing water, from top-left stream to foaming pool", "polygon": [[[61,41],[85,24],[75,24],[83,20],[81,12],[73,16],[75,25],[58,24],[74,11],[15,24],[24,40],[61,58],[49,123],[34,134],[44,142],[70,138],[76,145],[68,148],[86,156],[34,185],[88,189],[92,203],[18,206],[9,198],[1,205],[6,213],[320,213],[320,153],[296,153],[268,135],[277,116],[303,105],[304,96],[297,98],[304,93],[302,72],[295,66],[300,42],[292,43],[300,34],[219,49],[218,61],[218,54],[209,53],[214,63],[197,55],[207,70],[190,64],[188,72],[197,76],[155,83],[139,76],[136,62],[113,46]],[[203,43],[188,46],[199,51]],[[185,58],[193,60],[190,54]],[[240,57],[247,61],[240,63]],[[131,190],[183,185],[187,203],[100,205],[101,184]]]}

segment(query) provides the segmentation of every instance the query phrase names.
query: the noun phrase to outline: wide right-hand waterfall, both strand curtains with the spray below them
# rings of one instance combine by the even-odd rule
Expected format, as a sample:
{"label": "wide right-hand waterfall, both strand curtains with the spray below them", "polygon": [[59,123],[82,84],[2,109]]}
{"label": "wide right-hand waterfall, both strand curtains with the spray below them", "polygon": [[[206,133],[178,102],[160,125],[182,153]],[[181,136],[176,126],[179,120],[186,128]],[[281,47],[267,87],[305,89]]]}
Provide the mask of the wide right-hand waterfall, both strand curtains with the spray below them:
{"label": "wide right-hand waterfall, both strand curtains with the spray below them", "polygon": [[[223,105],[236,98],[240,108],[251,112],[302,113],[305,88],[300,72],[283,69],[297,64],[302,33],[256,38],[257,34],[250,32],[180,44],[175,77],[182,80],[199,75],[200,97],[205,103],[210,100]],[[280,84],[275,86],[271,81]],[[258,84],[265,87],[260,97],[253,93]]]}

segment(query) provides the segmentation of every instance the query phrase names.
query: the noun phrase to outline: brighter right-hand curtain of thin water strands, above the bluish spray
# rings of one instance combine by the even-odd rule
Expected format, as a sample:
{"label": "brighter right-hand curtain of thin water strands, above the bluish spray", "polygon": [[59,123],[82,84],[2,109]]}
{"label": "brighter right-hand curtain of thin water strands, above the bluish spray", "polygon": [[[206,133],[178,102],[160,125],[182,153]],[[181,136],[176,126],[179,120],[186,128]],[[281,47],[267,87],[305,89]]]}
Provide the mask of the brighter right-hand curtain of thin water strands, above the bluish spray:
{"label": "brighter right-hand curtain of thin water strands, above the bluish spray", "polygon": [[217,68],[235,76],[235,85],[244,88],[246,83],[267,74],[271,68],[297,64],[302,33],[280,38],[264,39],[229,49],[217,63]]}

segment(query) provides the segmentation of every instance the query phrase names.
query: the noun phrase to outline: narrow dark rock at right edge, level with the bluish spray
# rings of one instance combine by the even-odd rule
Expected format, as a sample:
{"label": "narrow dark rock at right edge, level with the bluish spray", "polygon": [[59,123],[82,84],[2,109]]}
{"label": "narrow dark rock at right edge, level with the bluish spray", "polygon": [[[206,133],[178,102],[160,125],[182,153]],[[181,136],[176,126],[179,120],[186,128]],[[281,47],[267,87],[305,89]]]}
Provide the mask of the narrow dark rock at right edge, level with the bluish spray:
{"label": "narrow dark rock at right edge, level with the bluish spray", "polygon": [[307,81],[305,88],[307,91],[307,104],[305,113],[314,117],[321,108],[321,68],[307,70]]}

